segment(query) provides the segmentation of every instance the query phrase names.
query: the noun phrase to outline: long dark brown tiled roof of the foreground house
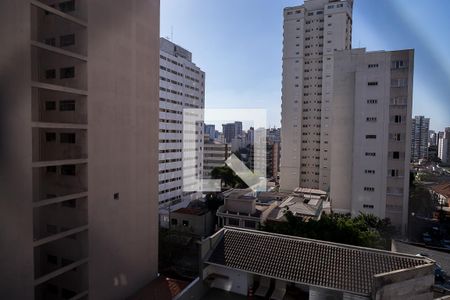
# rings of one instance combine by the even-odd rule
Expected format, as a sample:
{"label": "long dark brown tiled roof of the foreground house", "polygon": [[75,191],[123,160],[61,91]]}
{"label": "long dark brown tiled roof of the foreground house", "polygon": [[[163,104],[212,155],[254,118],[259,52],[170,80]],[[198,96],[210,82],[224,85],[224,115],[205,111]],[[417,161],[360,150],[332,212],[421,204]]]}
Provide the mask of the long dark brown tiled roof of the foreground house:
{"label": "long dark brown tiled roof of the foreground house", "polygon": [[425,265],[430,261],[388,251],[225,228],[207,263],[369,295],[375,274]]}

